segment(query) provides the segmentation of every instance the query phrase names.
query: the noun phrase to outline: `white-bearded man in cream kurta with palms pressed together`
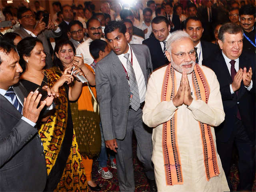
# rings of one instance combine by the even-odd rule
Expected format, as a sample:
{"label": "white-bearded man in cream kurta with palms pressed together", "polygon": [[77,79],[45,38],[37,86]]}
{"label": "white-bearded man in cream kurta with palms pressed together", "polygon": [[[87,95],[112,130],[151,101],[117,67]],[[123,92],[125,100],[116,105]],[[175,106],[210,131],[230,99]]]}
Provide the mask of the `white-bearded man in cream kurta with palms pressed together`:
{"label": "white-bearded man in cream kurta with palms pressed together", "polygon": [[196,64],[184,31],[166,43],[170,63],[148,80],[143,121],[153,127],[152,161],[159,192],[229,191],[214,126],[225,114],[216,75]]}

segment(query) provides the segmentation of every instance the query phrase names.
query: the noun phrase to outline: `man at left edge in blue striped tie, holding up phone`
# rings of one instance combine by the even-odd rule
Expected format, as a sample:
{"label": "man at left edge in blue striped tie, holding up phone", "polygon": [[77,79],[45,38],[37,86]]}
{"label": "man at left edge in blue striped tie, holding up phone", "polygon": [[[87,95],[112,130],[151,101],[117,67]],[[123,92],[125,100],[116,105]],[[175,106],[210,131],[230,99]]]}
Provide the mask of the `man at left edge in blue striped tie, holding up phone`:
{"label": "man at left edge in blue striped tie, holding up phone", "polygon": [[[44,106],[41,94],[19,84],[22,68],[16,48],[0,41],[0,191],[43,191],[46,164],[41,139],[34,127]],[[51,95],[48,88],[48,95]]]}

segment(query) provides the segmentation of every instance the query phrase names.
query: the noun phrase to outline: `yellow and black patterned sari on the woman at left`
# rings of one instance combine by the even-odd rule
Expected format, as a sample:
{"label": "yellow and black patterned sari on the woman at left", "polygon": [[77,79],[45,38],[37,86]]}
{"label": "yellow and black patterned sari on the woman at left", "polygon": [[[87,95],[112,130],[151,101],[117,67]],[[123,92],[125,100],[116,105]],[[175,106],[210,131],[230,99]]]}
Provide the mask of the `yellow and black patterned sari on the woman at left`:
{"label": "yellow and black patterned sari on the woman at left", "polygon": [[[50,87],[62,75],[57,67],[45,70]],[[87,192],[86,176],[73,131],[68,93],[64,86],[54,99],[54,113],[38,130],[46,159],[47,183],[45,191]]]}

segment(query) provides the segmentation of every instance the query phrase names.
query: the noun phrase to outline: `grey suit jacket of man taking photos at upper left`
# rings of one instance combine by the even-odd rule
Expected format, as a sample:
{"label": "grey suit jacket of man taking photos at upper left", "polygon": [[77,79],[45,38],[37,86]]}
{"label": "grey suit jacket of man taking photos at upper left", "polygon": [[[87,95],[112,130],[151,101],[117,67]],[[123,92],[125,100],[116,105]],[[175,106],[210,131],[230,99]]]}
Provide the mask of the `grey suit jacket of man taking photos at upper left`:
{"label": "grey suit jacket of man taking photos at upper left", "polygon": [[[19,34],[22,39],[26,37],[32,37],[32,35],[28,34],[22,26],[19,29],[15,30],[14,33]],[[50,68],[53,66],[52,56],[50,54],[50,47],[47,39],[59,37],[61,36],[61,34],[62,34],[62,30],[60,30],[60,32],[58,33],[55,33],[52,30],[44,30],[38,35],[38,39],[42,41],[44,46],[44,52],[46,53],[46,68]]]}

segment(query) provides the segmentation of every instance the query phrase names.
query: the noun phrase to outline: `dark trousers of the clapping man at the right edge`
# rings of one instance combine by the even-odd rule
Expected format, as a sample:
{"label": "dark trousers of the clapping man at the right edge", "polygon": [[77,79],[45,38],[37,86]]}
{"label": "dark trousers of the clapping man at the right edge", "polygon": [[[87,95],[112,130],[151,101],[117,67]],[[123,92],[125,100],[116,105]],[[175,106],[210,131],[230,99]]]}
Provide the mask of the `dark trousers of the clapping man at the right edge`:
{"label": "dark trousers of the clapping man at the right edge", "polygon": [[255,174],[255,152],[253,142],[250,141],[242,121],[236,119],[234,130],[227,142],[220,142],[216,138],[216,144],[230,191],[232,191],[232,185],[230,183],[229,173],[234,146],[236,146],[238,151],[238,171],[240,178],[237,190],[251,190]]}

